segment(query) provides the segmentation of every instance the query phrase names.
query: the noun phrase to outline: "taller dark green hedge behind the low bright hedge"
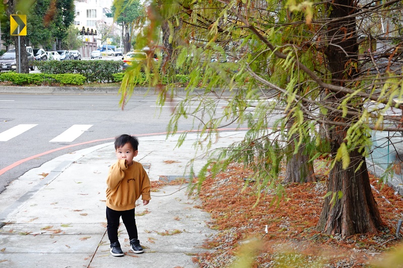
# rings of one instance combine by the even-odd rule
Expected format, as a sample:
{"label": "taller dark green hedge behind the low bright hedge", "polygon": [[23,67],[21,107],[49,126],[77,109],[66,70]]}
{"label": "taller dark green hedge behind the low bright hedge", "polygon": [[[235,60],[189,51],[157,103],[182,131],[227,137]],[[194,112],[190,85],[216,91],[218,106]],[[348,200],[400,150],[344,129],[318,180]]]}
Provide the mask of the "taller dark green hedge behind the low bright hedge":
{"label": "taller dark green hedge behind the low bright hedge", "polygon": [[121,72],[123,61],[116,60],[50,60],[38,61],[42,73],[79,73],[86,82],[114,82],[113,74]]}

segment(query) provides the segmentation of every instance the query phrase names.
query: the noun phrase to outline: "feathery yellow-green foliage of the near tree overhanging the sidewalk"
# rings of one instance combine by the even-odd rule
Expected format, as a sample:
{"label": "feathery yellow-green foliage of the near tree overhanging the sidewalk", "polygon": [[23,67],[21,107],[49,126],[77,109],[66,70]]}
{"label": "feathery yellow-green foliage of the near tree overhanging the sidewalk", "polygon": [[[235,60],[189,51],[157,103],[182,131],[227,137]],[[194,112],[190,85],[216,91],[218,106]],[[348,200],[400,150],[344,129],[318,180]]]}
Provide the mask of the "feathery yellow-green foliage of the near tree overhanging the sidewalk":
{"label": "feathery yellow-green foliage of the near tree overhanging the sidewalk", "polygon": [[[376,16],[354,3],[349,8],[359,9],[360,17],[349,13],[338,18],[339,23],[329,17],[342,16],[333,13],[332,5],[309,1],[243,1],[236,7],[220,1],[151,3],[151,22],[137,43],[149,44],[160,34],[153,23],[169,27],[163,42],[172,45],[169,53],[177,56],[176,62],[161,64],[161,72],[147,62],[142,66],[145,77],[140,71],[126,72],[122,100],[127,100],[134,81],[142,77],[149,85],[166,84],[160,87],[159,104],[163,105],[174,97],[175,84],[166,83],[161,73],[188,73],[187,95],[167,130],[174,134],[182,119],[193,119],[192,130],[203,137],[195,146],[209,150],[221,128],[247,128],[242,142],[220,149],[208,164],[214,176],[232,161],[243,162],[254,171],[257,196],[265,186],[279,183],[281,161],[299,153],[301,146],[311,161],[326,157],[324,162],[332,168],[361,170],[363,161],[353,161],[350,155],[368,156],[372,130],[401,130],[401,122],[387,111],[398,107],[393,99],[402,98],[403,79],[390,68],[397,60],[393,55],[387,59],[386,70],[373,55],[358,55],[361,41],[354,19],[365,22],[357,24],[358,32],[373,38]],[[367,27],[366,22],[372,21]],[[342,26],[351,32],[343,37],[331,32]],[[394,51],[397,55],[399,47]],[[293,150],[287,150],[289,144]],[[203,174],[207,171],[207,167],[200,171],[200,181],[207,179]],[[338,198],[337,193],[332,196],[332,200]]]}

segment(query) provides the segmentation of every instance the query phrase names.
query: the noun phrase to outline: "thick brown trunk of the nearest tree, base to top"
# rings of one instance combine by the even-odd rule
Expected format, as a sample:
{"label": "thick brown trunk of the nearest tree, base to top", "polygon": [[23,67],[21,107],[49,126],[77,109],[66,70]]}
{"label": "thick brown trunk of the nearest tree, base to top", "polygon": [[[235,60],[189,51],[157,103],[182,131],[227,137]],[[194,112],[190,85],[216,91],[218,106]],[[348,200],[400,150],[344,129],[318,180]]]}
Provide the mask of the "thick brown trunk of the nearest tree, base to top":
{"label": "thick brown trunk of the nearest tree, base to top", "polygon": [[[354,63],[358,55],[356,19],[353,16],[356,3],[354,0],[334,0],[329,4],[328,10],[333,20],[327,32],[331,44],[325,53],[333,84],[344,85],[356,74],[355,68],[348,69],[349,63]],[[335,99],[343,97],[344,94],[341,93],[332,96]],[[330,113],[328,118],[339,123],[347,121]],[[345,142],[346,134],[347,128],[329,128],[331,155],[336,155],[340,145]],[[350,159],[347,169],[343,169],[342,162],[337,162],[330,171],[327,191],[331,195],[324,200],[317,224],[317,229],[321,232],[350,236],[376,232],[382,225],[372,195],[365,157],[355,149],[350,152]],[[360,164],[362,165],[358,168]]]}

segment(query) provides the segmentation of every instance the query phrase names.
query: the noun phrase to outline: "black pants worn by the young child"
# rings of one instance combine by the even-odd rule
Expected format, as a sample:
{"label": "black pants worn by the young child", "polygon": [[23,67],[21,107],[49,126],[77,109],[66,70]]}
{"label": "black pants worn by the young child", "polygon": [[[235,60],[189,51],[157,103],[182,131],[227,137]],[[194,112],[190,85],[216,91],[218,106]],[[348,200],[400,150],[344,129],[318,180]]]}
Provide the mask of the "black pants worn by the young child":
{"label": "black pants worn by the young child", "polygon": [[111,243],[117,242],[117,229],[120,224],[120,217],[124,226],[126,227],[129,239],[138,239],[137,226],[135,220],[135,209],[116,211],[106,207],[106,230],[108,231],[109,241]]}

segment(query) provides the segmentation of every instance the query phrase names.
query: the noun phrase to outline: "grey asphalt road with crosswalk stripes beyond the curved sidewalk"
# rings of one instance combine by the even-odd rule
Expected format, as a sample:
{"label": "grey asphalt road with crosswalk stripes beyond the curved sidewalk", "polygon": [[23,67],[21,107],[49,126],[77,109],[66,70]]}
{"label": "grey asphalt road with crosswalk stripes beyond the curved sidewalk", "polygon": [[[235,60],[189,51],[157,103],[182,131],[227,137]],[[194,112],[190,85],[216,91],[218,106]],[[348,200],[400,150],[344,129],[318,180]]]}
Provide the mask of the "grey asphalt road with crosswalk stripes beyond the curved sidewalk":
{"label": "grey asphalt road with crosswalk stripes beyond the curved sidewalk", "polygon": [[[2,133],[14,127],[31,127],[9,140],[3,134],[3,141],[0,140],[0,193],[26,171],[59,155],[111,142],[123,133],[166,132],[174,104],[167,104],[161,110],[157,108],[156,96],[132,96],[122,111],[119,98],[115,95],[0,95],[0,139]],[[188,130],[191,124],[191,120],[183,122],[179,130]],[[73,126],[83,125],[86,130],[74,140],[57,139]],[[33,159],[27,160],[30,157]]]}

